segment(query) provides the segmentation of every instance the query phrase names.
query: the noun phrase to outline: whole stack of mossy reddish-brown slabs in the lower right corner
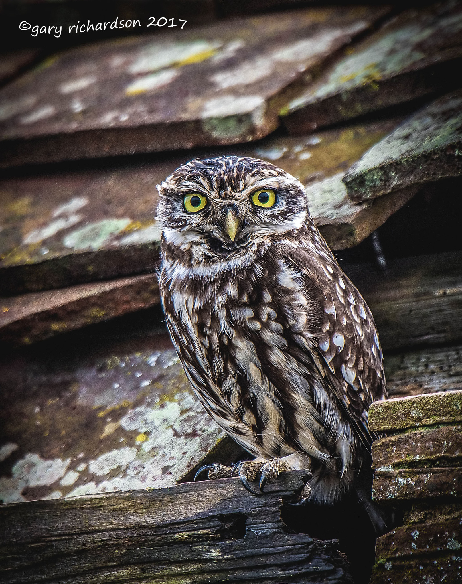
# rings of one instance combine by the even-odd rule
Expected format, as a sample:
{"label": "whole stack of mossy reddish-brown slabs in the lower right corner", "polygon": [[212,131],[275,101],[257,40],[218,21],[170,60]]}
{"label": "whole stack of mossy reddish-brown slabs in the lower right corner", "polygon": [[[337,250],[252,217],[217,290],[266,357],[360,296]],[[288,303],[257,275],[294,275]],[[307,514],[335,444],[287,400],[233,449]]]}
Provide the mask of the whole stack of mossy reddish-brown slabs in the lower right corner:
{"label": "whole stack of mossy reddish-brown slabs in the lower right corner", "polygon": [[462,391],[374,402],[373,498],[404,524],[381,536],[371,584],[462,581]]}

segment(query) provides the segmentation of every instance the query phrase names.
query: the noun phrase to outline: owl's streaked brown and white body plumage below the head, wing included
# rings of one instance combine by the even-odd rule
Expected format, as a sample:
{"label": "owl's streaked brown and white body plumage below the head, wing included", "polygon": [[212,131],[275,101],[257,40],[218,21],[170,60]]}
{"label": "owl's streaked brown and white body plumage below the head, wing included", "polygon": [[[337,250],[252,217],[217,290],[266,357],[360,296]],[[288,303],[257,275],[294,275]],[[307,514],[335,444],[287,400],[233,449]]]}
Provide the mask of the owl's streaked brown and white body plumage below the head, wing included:
{"label": "owl's streaked brown and white body plumage below the head, wing included", "polygon": [[159,285],[186,374],[217,423],[256,455],[303,451],[345,472],[371,442],[367,411],[385,379],[369,308],[319,237],[304,228],[211,280],[165,244]]}

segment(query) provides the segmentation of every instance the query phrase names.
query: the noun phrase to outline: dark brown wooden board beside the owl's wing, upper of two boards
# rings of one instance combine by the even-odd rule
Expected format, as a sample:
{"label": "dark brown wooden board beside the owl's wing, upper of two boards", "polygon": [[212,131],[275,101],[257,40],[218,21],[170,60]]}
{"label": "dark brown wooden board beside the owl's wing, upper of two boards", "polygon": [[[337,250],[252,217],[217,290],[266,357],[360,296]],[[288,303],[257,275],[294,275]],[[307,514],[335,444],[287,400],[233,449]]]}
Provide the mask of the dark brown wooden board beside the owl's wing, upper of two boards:
{"label": "dark brown wooden board beside the owl's wing, upper of two boards", "polygon": [[387,273],[371,265],[345,270],[366,299],[385,350],[460,343],[462,254],[393,259]]}

